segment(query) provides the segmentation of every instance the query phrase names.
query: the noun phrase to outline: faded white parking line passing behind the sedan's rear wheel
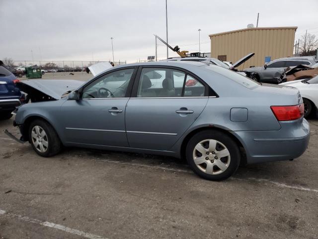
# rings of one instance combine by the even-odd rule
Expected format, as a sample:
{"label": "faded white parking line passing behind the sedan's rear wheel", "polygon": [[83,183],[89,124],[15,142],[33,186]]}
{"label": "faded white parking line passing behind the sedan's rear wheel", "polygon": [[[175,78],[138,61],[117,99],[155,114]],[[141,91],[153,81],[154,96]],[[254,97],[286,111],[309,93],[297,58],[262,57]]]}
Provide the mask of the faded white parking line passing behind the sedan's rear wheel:
{"label": "faded white parking line passing behind the sedan's rear wheel", "polygon": [[[130,162],[117,161],[117,160],[108,160],[108,159],[94,159],[94,160],[108,162],[108,163],[124,164],[124,165],[130,165],[130,166],[142,166],[142,167],[146,167],[146,168],[155,168],[155,169],[161,169],[161,170],[172,171],[172,172],[193,173],[192,170],[167,168],[167,167],[163,167],[163,166],[152,166],[152,165],[142,164],[142,163],[130,163]],[[275,181],[271,181],[271,180],[263,179],[263,178],[240,179],[240,178],[236,178],[236,177],[230,177],[229,180],[244,181],[244,182],[248,182],[248,183],[257,182],[257,183],[261,183],[264,185],[273,184],[273,185],[280,187],[280,188],[291,188],[291,189],[296,189],[296,190],[318,193],[318,189],[305,188],[305,187],[298,186],[298,185],[288,185],[285,183],[275,182]]]}

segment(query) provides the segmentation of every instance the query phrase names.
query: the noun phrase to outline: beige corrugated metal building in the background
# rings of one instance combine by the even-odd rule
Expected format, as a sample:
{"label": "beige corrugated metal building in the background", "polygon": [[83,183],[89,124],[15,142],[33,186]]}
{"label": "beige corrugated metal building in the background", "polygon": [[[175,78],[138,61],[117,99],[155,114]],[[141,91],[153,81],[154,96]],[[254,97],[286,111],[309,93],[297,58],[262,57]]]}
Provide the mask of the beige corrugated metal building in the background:
{"label": "beige corrugated metal building in the background", "polygon": [[297,26],[253,27],[211,34],[211,57],[233,63],[254,52],[239,69],[262,66],[266,61],[293,56]]}

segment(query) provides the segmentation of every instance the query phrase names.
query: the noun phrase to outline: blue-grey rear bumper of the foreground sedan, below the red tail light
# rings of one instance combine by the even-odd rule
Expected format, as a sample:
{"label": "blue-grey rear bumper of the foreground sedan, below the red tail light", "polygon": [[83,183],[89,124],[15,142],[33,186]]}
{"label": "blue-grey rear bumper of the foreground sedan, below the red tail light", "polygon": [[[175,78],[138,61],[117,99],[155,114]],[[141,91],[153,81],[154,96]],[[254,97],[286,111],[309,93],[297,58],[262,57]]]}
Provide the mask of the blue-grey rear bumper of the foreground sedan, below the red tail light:
{"label": "blue-grey rear bumper of the foreground sedan, below the red tail light", "polygon": [[[242,142],[247,163],[262,163],[290,160],[301,156],[307,149],[310,139],[309,123],[306,119],[293,135],[285,134],[285,130],[275,131],[235,131]],[[284,136],[283,136],[284,135]]]}

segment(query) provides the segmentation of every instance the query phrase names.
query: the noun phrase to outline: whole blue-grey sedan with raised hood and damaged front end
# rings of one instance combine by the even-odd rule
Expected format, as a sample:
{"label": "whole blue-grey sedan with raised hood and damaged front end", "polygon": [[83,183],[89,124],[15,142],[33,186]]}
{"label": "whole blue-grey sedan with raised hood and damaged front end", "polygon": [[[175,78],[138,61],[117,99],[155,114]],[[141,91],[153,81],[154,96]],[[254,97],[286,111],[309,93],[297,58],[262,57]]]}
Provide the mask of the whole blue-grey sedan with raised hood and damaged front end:
{"label": "whole blue-grey sedan with raised hood and damaged front end", "polygon": [[294,159],[309,142],[297,89],[211,64],[129,64],[77,84],[21,82],[33,103],[15,112],[19,141],[44,157],[78,146],[186,158],[209,180],[230,177],[240,163]]}

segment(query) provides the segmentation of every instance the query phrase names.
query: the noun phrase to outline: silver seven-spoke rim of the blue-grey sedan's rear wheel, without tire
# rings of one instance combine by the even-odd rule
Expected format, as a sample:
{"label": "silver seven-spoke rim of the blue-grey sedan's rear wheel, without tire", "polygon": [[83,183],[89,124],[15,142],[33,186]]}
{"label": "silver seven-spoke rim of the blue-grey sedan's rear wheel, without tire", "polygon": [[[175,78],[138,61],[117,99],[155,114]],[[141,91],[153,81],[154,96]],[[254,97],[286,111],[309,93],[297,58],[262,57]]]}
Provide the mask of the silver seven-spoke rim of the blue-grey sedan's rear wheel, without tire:
{"label": "silver seven-spoke rim of the blue-grey sedan's rear wheel, without tire", "polygon": [[231,156],[228,148],[220,141],[205,139],[194,147],[193,160],[201,171],[217,175],[228,169]]}

